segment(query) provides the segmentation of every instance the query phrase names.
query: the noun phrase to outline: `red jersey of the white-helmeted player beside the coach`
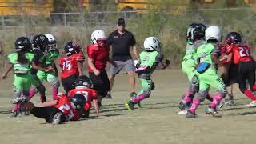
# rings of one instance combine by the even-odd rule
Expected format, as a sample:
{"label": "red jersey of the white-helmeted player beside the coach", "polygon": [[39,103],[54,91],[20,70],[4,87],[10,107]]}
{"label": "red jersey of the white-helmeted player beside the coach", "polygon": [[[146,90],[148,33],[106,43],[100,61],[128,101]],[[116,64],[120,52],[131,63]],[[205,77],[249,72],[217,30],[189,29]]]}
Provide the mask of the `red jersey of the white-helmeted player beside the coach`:
{"label": "red jersey of the white-helmeted player beside the coach", "polygon": [[[94,60],[94,66],[97,70],[105,70],[106,62],[109,59],[110,55],[110,46],[106,45],[103,47],[89,45],[87,46],[87,54],[88,58]],[[93,72],[93,70],[88,66],[89,72]]]}

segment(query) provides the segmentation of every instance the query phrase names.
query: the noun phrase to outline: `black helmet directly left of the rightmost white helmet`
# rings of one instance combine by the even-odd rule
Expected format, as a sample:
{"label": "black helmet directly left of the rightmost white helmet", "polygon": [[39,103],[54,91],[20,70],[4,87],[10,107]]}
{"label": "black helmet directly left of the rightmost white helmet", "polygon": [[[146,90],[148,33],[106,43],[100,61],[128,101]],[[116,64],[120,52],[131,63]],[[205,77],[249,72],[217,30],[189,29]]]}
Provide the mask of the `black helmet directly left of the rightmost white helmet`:
{"label": "black helmet directly left of the rightmost white helmet", "polygon": [[194,42],[205,37],[206,26],[202,23],[192,23],[186,31],[186,40]]}

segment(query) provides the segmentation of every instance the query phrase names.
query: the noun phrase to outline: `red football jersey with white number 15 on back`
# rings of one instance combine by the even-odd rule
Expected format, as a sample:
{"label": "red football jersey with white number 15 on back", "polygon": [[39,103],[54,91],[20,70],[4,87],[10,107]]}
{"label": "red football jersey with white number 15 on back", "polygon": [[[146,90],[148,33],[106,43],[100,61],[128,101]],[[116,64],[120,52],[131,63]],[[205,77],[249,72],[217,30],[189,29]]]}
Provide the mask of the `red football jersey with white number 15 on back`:
{"label": "red football jersey with white number 15 on back", "polygon": [[72,54],[59,60],[59,66],[62,68],[61,78],[70,77],[73,74],[78,75],[78,62],[84,62],[85,57],[82,53]]}

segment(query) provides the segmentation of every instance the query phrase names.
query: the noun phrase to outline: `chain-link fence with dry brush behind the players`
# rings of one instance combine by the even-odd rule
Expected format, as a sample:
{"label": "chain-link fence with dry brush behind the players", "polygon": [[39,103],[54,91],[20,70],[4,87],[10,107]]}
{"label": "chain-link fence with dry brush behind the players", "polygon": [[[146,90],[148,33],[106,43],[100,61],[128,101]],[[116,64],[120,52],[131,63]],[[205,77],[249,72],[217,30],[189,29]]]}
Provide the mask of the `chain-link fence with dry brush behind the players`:
{"label": "chain-link fence with dry brush behind the players", "polygon": [[102,11],[91,13],[53,13],[50,18],[43,17],[1,17],[0,40],[4,52],[13,49],[13,42],[22,35],[52,33],[58,38],[58,46],[70,40],[82,46],[90,43],[90,34],[95,29],[105,30],[106,34],[116,29],[118,18],[126,19],[126,28],[142,50],[142,43],[148,36],[161,39],[162,51],[178,66],[186,46],[186,28],[192,22],[202,22],[206,26],[216,25],[222,30],[224,39],[231,31],[242,34],[243,40],[250,46],[256,45],[256,14],[250,7],[225,9],[183,10],[179,14],[167,14],[161,10],[149,10],[146,13],[134,11]]}

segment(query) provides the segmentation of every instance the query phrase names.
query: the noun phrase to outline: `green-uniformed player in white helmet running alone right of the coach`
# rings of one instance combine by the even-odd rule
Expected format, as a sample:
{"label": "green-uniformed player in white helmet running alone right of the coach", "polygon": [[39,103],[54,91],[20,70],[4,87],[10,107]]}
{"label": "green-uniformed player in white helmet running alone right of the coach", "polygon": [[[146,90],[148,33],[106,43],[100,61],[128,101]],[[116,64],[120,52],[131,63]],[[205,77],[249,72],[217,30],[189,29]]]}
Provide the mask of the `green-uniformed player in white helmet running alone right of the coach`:
{"label": "green-uniformed player in white helmet running alone right of the coach", "polygon": [[150,77],[156,67],[160,65],[162,69],[165,69],[170,64],[170,61],[167,59],[165,63],[162,62],[163,54],[160,52],[160,42],[158,38],[146,38],[144,48],[145,51],[139,54],[139,61],[136,64],[136,73],[142,82],[142,90],[136,97],[125,104],[128,110],[134,110],[135,104],[150,97],[151,90],[154,90],[154,82]]}

